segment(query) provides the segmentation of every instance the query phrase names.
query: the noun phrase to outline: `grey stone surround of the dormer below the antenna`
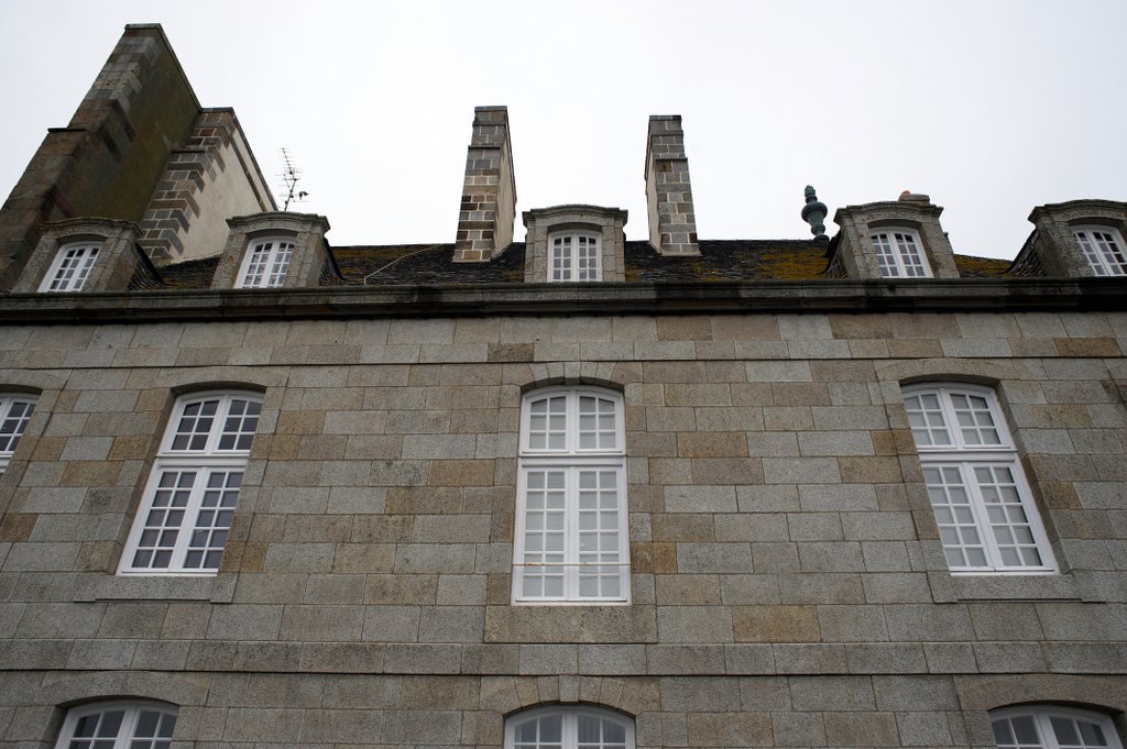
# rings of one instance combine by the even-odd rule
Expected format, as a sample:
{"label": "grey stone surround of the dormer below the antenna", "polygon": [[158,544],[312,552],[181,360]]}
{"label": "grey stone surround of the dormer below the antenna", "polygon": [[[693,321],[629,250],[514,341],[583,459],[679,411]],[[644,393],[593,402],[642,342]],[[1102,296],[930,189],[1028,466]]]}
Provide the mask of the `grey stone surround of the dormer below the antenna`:
{"label": "grey stone surround of the dormer below the antenna", "polygon": [[276,237],[293,242],[293,256],[286,270],[283,288],[316,287],[328,270],[336,273],[336,266],[325,233],[329,231],[329,220],[310,213],[259,213],[252,216],[228,219],[231,228],[227,247],[220,258],[212,288],[233,288],[239,280],[247,250],[258,238]]}

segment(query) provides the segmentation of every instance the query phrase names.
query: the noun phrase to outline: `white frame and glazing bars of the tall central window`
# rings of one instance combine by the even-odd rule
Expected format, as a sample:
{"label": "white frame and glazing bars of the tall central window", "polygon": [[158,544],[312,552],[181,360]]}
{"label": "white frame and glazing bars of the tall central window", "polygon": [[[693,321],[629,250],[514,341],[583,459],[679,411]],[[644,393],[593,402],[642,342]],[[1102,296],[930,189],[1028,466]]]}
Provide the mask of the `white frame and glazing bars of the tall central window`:
{"label": "white frame and glazing bars of the tall central window", "polygon": [[[586,413],[586,419],[594,419],[602,429],[601,435],[594,436],[595,445],[585,446],[582,444],[580,435],[580,403],[585,399],[595,399],[595,403],[604,409],[600,419],[598,412]],[[562,401],[562,410],[556,412],[557,417],[562,417],[562,431],[559,444],[550,445],[545,438],[543,444],[539,444],[532,436],[533,411],[538,403],[551,402],[558,408]],[[586,401],[591,405],[591,401]],[[605,425],[609,414],[605,407],[613,409],[613,427]],[[597,411],[596,407],[596,411]],[[560,421],[557,418],[557,421]],[[559,426],[559,425],[557,425]],[[540,430],[536,434],[541,434]],[[584,431],[587,436],[594,433]],[[548,483],[548,476],[553,476],[551,481],[562,484],[554,489],[557,494],[562,494],[562,510],[558,507],[556,511],[544,510],[540,517],[530,516],[530,492],[535,497],[540,489],[538,483]],[[597,488],[587,487],[588,491],[580,492],[580,487],[594,479]],[[598,387],[545,387],[525,394],[521,405],[521,442],[520,458],[517,465],[517,501],[516,521],[513,537],[513,597],[514,604],[549,604],[549,605],[583,605],[583,604],[629,604],[630,603],[630,546],[629,546],[629,511],[627,502],[627,470],[625,470],[625,417],[623,413],[623,401],[621,393]],[[609,517],[606,508],[601,506],[597,511],[592,508],[580,510],[580,493],[586,493],[587,499],[595,494],[598,500],[601,494],[613,491],[615,507],[613,518]],[[547,496],[550,489],[544,489]],[[545,526],[550,515],[562,517],[562,528],[544,529],[541,527],[530,527],[530,524]],[[601,533],[595,533],[597,528],[591,526],[594,518],[595,525],[612,520],[616,527],[609,528]],[[607,526],[603,526],[607,527]],[[543,530],[539,538],[538,532]],[[554,533],[551,533],[553,530]],[[603,552],[606,559],[596,562],[584,561],[584,556],[600,554],[596,542],[595,546],[583,549],[585,543],[583,536],[589,541],[593,535],[606,537],[614,536],[616,550]],[[545,550],[549,536],[562,535],[561,550]],[[531,543],[530,543],[531,540]],[[540,542],[541,549],[531,546]],[[536,562],[548,555],[561,556],[561,562]],[[607,568],[616,569],[616,594],[582,595],[580,589],[586,585],[602,587],[605,580],[610,583],[611,573]],[[526,580],[530,586],[535,585],[535,578],[540,579],[541,586],[547,586],[548,580],[538,573],[549,573],[549,568],[559,568],[561,574],[550,577],[562,578],[562,589],[559,595],[548,594],[541,588],[539,594],[525,592]],[[594,579],[592,574],[594,573]]]}

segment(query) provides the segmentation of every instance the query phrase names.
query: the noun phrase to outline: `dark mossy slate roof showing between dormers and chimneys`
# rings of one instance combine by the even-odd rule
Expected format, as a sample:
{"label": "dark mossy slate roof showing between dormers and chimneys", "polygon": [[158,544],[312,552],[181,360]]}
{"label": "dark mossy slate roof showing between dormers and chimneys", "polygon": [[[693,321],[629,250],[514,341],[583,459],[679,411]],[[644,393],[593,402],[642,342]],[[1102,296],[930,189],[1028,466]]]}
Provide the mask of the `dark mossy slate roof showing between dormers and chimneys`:
{"label": "dark mossy slate roof showing between dormers and chimneys", "polygon": [[[817,280],[827,278],[826,240],[702,240],[700,256],[663,257],[645,241],[625,243],[625,278],[641,282]],[[524,242],[490,262],[454,262],[454,244],[391,244],[331,248],[340,278],[323,286],[506,284],[524,282]],[[962,277],[1008,275],[1009,260],[955,256]],[[159,269],[169,288],[208,288],[219,256]]]}

